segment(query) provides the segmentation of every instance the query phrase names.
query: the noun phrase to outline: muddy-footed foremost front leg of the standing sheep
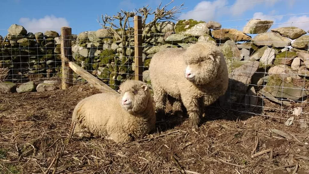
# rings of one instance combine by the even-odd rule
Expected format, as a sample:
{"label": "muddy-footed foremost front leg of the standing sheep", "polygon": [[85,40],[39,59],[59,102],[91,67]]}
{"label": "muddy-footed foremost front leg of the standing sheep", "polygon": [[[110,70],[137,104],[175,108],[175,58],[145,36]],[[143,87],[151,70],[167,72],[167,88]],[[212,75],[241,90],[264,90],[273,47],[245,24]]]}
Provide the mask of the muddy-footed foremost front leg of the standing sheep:
{"label": "muddy-footed foremost front leg of the standing sheep", "polygon": [[192,98],[189,95],[184,95],[182,97],[184,107],[186,107],[188,111],[191,129],[195,131],[198,129],[198,124],[200,124],[200,102],[197,98]]}

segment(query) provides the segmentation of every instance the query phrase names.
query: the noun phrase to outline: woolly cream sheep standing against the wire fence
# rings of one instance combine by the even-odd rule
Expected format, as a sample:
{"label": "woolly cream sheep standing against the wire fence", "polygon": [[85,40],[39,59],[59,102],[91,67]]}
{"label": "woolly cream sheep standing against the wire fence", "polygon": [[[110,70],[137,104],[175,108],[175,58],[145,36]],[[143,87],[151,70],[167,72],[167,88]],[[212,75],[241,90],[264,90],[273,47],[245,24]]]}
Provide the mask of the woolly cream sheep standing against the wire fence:
{"label": "woolly cream sheep standing against the wire fence", "polygon": [[192,130],[198,128],[204,107],[225,94],[228,73],[221,50],[213,43],[197,42],[185,49],[167,48],[154,54],[149,65],[155,110],[164,114],[167,94],[175,98],[173,113],[188,111]]}

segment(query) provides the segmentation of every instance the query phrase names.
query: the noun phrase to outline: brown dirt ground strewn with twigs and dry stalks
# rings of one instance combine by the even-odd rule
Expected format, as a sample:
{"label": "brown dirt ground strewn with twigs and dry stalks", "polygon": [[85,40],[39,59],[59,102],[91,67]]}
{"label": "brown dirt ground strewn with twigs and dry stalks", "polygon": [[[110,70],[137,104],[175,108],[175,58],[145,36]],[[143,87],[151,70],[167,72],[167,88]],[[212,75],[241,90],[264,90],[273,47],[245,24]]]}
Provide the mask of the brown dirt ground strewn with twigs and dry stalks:
{"label": "brown dirt ground strewn with twigs and dry stalks", "polygon": [[[0,173],[285,174],[296,169],[309,174],[309,128],[300,129],[296,121],[285,126],[292,112],[276,109],[265,109],[270,116],[262,116],[209,107],[196,132],[188,127],[188,117],[170,115],[157,122],[155,133],[127,145],[75,136],[67,144],[75,105],[97,93],[74,85],[0,94]],[[267,100],[263,105],[280,109]],[[302,105],[286,109],[297,106]],[[303,112],[308,108],[303,105]],[[285,132],[287,138],[271,129]],[[267,153],[251,157],[263,150]]]}

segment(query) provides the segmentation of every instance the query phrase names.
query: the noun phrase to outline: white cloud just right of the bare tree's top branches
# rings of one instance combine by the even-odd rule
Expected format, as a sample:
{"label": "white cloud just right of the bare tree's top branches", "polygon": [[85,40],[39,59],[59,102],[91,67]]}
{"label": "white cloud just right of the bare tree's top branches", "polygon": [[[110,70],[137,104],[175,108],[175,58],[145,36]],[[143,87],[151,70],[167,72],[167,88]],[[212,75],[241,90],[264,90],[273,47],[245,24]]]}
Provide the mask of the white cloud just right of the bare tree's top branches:
{"label": "white cloud just right of the bare tree's top branches", "polygon": [[[227,0],[215,0],[215,1],[201,1],[191,11],[180,15],[180,19],[194,19],[207,22],[208,20],[214,20],[221,7],[226,6]],[[221,9],[222,10],[222,9]]]}

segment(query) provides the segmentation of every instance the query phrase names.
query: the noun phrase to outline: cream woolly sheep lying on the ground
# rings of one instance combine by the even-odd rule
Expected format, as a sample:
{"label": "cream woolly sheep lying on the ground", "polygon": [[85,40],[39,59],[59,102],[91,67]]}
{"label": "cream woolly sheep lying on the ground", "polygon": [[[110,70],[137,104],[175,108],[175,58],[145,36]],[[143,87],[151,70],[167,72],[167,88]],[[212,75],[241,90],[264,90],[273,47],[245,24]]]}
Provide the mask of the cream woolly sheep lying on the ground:
{"label": "cream woolly sheep lying on the ground", "polygon": [[126,80],[118,92],[81,100],[72,115],[72,123],[76,121],[73,133],[124,144],[153,130],[156,117],[148,86],[142,81]]}

